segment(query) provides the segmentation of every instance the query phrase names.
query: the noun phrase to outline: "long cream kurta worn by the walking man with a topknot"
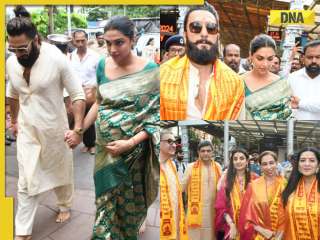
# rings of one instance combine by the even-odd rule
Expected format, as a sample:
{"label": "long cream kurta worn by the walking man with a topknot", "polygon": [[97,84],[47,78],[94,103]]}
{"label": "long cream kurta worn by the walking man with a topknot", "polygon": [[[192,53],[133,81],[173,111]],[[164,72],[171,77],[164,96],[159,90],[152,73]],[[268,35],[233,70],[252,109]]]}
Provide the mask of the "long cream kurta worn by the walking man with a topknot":
{"label": "long cream kurta worn by the walking man with a topknot", "polygon": [[68,130],[63,88],[72,101],[85,99],[81,81],[72,73],[66,57],[48,43],[30,74],[30,85],[23,78],[24,68],[16,56],[7,60],[7,97],[19,100],[17,159],[19,189],[30,196],[73,183],[72,150],[64,142]]}

